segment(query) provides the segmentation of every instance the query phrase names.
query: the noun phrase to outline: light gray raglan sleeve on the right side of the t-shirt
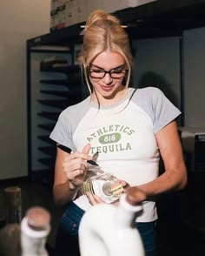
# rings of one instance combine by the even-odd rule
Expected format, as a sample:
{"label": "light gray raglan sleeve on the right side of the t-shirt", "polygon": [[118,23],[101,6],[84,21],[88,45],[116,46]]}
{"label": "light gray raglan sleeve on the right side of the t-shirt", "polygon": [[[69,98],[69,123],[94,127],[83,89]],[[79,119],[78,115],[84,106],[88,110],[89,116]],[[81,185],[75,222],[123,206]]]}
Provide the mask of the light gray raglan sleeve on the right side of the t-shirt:
{"label": "light gray raglan sleeve on the right side of the t-shirt", "polygon": [[181,111],[179,111],[158,88],[147,87],[138,90],[140,93],[137,102],[152,119],[153,131],[155,133],[181,114]]}

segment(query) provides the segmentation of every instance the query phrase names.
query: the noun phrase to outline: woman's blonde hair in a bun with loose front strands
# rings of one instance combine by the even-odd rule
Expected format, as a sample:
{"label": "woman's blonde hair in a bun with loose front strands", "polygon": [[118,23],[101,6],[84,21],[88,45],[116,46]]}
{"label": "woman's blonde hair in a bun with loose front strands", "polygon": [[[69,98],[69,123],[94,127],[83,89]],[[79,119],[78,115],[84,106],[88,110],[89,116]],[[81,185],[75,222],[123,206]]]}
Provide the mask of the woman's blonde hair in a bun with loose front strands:
{"label": "woman's blonde hair in a bun with loose front strands", "polygon": [[129,37],[119,20],[103,10],[95,10],[89,16],[82,32],[83,48],[79,62],[83,65],[86,83],[91,92],[86,67],[103,51],[115,51],[122,55],[128,67],[125,86],[129,86],[132,56],[129,48]]}

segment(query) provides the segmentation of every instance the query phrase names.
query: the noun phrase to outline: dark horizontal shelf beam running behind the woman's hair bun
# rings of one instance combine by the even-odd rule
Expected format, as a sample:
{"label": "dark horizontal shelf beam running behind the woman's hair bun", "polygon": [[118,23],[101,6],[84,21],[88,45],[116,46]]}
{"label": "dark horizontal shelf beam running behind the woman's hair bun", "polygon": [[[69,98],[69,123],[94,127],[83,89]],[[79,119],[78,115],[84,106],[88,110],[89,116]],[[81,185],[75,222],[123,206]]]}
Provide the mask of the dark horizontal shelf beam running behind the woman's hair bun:
{"label": "dark horizontal shelf beam running behind the woman's hair bun", "polygon": [[[204,10],[205,0],[158,0],[135,8],[118,10],[114,14],[122,24],[129,26],[130,37],[168,37],[180,36],[182,30],[204,26]],[[79,36],[83,30],[81,24],[31,38],[27,41],[28,47],[41,44],[65,45],[66,42],[77,44],[82,41]]]}

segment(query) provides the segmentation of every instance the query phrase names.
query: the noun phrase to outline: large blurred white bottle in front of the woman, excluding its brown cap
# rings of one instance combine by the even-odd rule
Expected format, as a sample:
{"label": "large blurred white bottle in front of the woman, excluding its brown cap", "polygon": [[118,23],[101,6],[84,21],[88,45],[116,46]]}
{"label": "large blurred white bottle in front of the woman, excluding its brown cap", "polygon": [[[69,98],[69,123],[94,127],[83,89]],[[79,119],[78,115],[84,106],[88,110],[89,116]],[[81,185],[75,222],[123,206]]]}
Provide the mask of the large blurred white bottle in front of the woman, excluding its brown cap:
{"label": "large blurred white bottle in front of the woman, excluding its brown cap", "polygon": [[129,205],[122,194],[118,206],[99,204],[85,212],[79,227],[81,256],[144,256],[133,224],[142,205]]}

